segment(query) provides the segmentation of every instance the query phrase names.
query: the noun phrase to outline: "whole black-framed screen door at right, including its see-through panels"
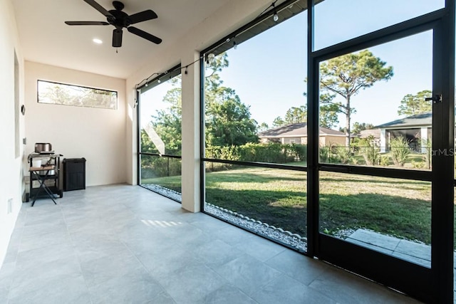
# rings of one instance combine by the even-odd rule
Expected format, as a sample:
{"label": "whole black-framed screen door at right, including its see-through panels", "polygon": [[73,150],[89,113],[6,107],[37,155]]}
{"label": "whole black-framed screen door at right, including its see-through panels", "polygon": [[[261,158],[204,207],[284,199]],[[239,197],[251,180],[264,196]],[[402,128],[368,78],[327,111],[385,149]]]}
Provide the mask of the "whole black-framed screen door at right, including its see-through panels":
{"label": "whole black-framed screen door at right, including its see-through panels", "polygon": [[425,301],[450,275],[432,260],[452,234],[439,218],[453,174],[440,23],[378,31],[314,65],[315,256]]}

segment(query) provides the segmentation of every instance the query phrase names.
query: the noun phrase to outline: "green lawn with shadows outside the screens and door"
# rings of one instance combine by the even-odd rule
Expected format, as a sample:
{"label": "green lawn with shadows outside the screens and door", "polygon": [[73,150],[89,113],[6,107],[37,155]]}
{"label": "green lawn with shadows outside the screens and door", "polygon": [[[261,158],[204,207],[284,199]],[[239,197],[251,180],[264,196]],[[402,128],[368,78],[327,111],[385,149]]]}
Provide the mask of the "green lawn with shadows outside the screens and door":
{"label": "green lawn with shadows outside the screens and door", "polygon": [[[244,167],[210,172],[206,201],[306,236],[306,172]],[[180,177],[143,179],[180,191]],[[430,182],[321,172],[321,231],[365,228],[430,243]]]}

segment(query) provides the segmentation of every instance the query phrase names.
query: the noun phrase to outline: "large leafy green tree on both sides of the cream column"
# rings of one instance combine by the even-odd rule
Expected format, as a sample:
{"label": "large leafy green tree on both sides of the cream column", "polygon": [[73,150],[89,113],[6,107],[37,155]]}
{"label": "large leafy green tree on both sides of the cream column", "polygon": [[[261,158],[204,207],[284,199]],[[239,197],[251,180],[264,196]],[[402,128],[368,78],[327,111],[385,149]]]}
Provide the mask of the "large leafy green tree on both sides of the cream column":
{"label": "large leafy green tree on both sides of the cream column", "polygon": [[[229,64],[222,53],[207,67],[204,82],[207,145],[244,145],[257,142],[257,122],[251,118],[249,106],[241,102],[232,88],[224,87],[219,72]],[[165,142],[167,153],[180,154],[182,147],[181,76],[173,78],[174,88],[167,91],[163,102],[167,108],[152,116],[155,132]]]}

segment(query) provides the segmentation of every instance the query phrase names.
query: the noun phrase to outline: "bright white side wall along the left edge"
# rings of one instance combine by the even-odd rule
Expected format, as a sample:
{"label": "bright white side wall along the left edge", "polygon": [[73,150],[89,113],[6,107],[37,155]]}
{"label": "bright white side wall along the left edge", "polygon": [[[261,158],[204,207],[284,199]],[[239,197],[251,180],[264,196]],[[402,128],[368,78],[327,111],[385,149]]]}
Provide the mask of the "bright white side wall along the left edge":
{"label": "bright white side wall along the left edge", "polygon": [[[19,157],[15,153],[14,110],[14,51],[19,60],[19,102],[24,103],[24,61],[21,56],[19,34],[10,0],[0,0],[0,266],[4,261],[11,232],[22,205],[22,159],[24,147],[20,145]],[[20,138],[24,137],[24,117],[20,115]],[[12,201],[8,213],[8,201]]]}

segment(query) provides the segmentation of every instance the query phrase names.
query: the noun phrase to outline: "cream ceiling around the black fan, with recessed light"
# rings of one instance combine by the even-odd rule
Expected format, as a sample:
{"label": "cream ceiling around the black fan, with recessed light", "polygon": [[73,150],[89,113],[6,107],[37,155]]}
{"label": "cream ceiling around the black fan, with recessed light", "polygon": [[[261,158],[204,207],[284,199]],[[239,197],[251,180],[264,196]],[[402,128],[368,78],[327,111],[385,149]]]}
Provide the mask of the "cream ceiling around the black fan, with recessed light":
{"label": "cream ceiling around the black fan, with recessed light", "polygon": [[[97,0],[106,10],[112,1]],[[106,21],[83,0],[13,0],[24,59],[128,78],[162,48],[181,38],[229,0],[123,0],[131,15],[152,9],[158,18],[135,27],[162,38],[160,45],[123,30],[122,47],[111,46],[114,27],[68,26],[64,21]],[[100,38],[103,44],[93,43]]]}

